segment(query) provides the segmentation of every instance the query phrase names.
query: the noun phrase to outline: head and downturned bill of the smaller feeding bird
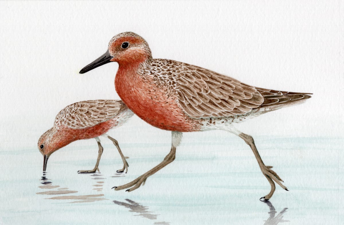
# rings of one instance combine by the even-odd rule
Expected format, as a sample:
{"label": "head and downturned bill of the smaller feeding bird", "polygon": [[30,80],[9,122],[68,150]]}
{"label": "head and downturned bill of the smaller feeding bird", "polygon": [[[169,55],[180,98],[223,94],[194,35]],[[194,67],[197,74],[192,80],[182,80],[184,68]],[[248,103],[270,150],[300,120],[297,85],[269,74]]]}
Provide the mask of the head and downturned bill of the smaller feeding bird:
{"label": "head and downturned bill of the smaller feeding bird", "polygon": [[40,137],[37,143],[38,150],[43,155],[43,172],[46,170],[46,164],[48,162],[48,159],[50,155],[56,151],[57,147],[52,142],[53,139],[53,128],[45,131],[43,135]]}

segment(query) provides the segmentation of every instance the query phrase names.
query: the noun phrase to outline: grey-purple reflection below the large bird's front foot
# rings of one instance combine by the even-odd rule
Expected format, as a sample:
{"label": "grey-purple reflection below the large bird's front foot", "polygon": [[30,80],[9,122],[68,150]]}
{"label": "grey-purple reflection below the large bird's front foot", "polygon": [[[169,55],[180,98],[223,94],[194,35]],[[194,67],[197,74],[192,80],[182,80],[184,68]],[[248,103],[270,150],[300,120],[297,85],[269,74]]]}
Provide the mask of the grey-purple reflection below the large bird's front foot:
{"label": "grey-purple reflection below the large bird's front foot", "polygon": [[[159,214],[152,214],[154,212],[148,211],[148,206],[141,205],[140,203],[134,202],[130,199],[126,199],[127,202],[114,201],[115,204],[130,208],[129,212],[138,213],[135,216],[142,216],[148,219],[157,219]],[[155,222],[154,225],[170,225],[169,222]]]}

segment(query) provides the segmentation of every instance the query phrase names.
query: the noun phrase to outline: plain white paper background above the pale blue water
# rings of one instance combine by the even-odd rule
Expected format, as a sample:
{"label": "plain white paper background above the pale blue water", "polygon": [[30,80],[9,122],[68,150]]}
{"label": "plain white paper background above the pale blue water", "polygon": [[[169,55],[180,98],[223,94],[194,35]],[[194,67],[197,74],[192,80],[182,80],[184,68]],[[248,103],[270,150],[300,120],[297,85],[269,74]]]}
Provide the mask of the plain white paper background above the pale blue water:
{"label": "plain white paper background above the pale blue water", "polygon": [[[1,2],[1,148],[35,145],[68,104],[117,99],[116,63],[78,71],[123,31],[143,36],[155,58],[202,66],[258,87],[314,93],[303,105],[240,124],[251,135],[341,135],[341,3]],[[162,132],[138,118],[127,126]]]}

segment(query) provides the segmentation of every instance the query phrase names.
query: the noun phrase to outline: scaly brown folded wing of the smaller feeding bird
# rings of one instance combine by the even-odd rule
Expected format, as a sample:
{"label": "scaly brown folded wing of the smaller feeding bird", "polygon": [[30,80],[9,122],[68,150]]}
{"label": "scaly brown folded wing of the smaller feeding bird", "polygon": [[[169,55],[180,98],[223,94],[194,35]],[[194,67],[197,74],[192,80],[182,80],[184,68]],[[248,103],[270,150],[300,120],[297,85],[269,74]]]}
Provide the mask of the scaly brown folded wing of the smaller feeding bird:
{"label": "scaly brown folded wing of the smaller feeding bird", "polygon": [[73,129],[92,127],[127,109],[121,100],[79,101],[62,109],[55,118],[54,126],[63,125]]}

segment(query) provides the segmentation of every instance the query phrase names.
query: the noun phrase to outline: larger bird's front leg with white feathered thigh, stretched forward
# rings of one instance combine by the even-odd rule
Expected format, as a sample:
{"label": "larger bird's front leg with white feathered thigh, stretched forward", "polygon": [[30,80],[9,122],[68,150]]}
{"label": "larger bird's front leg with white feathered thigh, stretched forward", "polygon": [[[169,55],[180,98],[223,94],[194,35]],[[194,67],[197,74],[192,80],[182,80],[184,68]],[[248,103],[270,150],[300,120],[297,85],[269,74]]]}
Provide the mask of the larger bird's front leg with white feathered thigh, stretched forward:
{"label": "larger bird's front leg with white feathered thigh, stretched forward", "polygon": [[126,188],[131,187],[131,188],[126,190],[128,192],[133,191],[135,189],[138,189],[142,183],[146,182],[147,178],[150,175],[161,170],[163,167],[165,167],[167,164],[171,163],[175,159],[176,147],[180,144],[181,139],[182,139],[182,133],[181,132],[172,131],[172,147],[171,147],[171,150],[161,163],[159,163],[156,167],[149,170],[148,172],[142,174],[137,179],[135,179],[135,180],[133,180],[127,184],[124,184],[121,186],[115,186],[112,188],[114,188],[115,190],[122,190],[122,189],[126,189]]}

